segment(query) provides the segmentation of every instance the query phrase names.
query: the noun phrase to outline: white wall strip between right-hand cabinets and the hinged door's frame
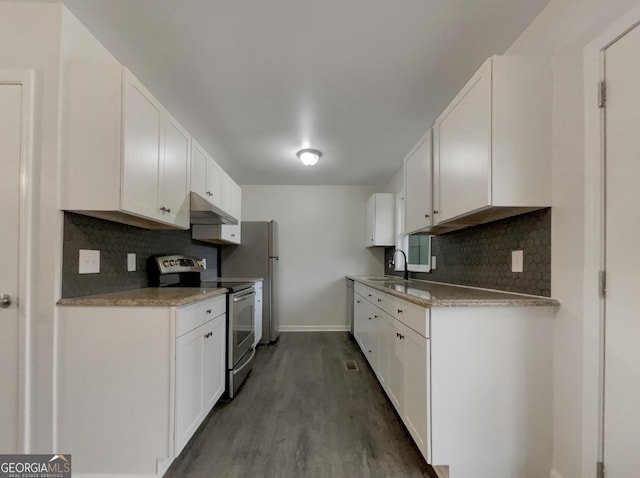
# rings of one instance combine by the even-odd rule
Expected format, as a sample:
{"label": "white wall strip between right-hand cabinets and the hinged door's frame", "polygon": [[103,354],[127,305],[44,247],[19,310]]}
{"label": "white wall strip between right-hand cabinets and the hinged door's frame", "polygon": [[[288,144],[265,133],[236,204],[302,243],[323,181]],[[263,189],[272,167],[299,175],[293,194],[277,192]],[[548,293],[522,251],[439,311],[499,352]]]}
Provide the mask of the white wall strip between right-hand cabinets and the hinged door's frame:
{"label": "white wall strip between right-hand cabinets and the hinged door's frame", "polygon": [[[551,294],[554,324],[552,476],[595,476],[583,450],[583,278],[585,251],[584,49],[638,0],[551,0],[507,54],[543,55],[553,67]],[[596,101],[596,85],[593,101]],[[595,252],[595,251],[593,251]],[[590,293],[596,293],[595,290]],[[583,469],[584,468],[584,469]]]}

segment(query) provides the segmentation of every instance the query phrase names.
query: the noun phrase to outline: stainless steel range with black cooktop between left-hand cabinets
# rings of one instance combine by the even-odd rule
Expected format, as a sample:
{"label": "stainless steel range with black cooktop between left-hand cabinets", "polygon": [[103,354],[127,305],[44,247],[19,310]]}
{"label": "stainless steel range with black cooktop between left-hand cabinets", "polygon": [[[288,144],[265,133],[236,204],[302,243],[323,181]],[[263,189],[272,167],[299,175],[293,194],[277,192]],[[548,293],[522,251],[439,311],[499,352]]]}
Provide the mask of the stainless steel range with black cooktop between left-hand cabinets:
{"label": "stainless steel range with black cooktop between left-hand cabinets", "polygon": [[253,282],[203,281],[202,259],[172,255],[155,258],[157,271],[151,285],[227,289],[227,380],[226,393],[233,398],[253,367],[255,348],[255,287]]}

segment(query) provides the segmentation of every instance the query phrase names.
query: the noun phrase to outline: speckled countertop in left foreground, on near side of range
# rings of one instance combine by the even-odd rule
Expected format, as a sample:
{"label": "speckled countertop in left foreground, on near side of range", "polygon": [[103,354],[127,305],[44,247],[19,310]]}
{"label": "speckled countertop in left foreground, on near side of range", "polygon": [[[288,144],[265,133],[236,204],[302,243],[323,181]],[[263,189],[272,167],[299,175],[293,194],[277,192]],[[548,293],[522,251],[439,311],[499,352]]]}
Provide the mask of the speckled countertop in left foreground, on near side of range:
{"label": "speckled countertop in left foreground, on near side of range", "polygon": [[200,289],[199,287],[146,287],[144,289],[111,292],[60,299],[58,305],[84,305],[99,307],[178,307],[225,294],[227,289]]}

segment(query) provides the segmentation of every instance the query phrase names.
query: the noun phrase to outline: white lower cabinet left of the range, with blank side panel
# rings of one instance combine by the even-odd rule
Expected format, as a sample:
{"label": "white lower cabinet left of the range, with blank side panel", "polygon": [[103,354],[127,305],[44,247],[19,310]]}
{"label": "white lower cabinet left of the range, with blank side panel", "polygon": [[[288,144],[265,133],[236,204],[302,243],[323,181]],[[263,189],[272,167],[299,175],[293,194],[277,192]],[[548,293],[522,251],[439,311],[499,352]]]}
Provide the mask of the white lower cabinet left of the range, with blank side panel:
{"label": "white lower cabinet left of the range, with blank side panel", "polygon": [[55,439],[74,476],[161,476],[224,392],[225,337],[224,295],[58,307]]}

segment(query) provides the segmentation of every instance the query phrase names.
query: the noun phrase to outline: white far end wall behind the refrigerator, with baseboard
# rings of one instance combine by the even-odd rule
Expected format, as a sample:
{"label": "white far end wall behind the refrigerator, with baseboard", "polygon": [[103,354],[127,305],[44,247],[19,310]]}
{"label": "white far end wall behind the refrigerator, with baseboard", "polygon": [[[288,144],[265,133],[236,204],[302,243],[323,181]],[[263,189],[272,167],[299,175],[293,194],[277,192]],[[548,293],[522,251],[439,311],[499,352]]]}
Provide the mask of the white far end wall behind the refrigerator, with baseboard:
{"label": "white far end wall behind the refrigerator, with baseboard", "polygon": [[383,249],[364,246],[365,203],[381,187],[243,186],[242,219],[280,232],[283,330],[345,330],[345,275],[382,275]]}

